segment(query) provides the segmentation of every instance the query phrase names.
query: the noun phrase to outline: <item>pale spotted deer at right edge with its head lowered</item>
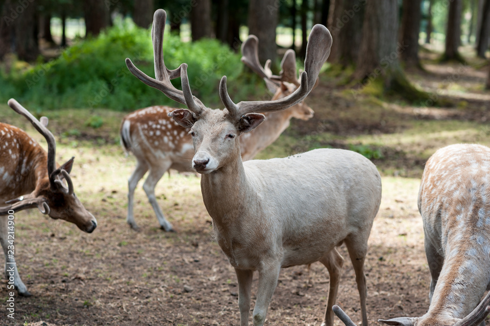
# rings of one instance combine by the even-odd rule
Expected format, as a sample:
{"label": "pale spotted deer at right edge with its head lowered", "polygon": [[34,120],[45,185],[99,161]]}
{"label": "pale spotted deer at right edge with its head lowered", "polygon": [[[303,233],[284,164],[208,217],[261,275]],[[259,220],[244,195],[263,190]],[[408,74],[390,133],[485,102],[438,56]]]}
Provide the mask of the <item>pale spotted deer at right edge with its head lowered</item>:
{"label": "pale spotted deer at right edge with its head lowered", "polygon": [[458,144],[436,151],[425,165],[418,210],[431,274],[429,310],[380,322],[484,326],[490,311],[490,293],[480,302],[490,288],[490,148]]}

